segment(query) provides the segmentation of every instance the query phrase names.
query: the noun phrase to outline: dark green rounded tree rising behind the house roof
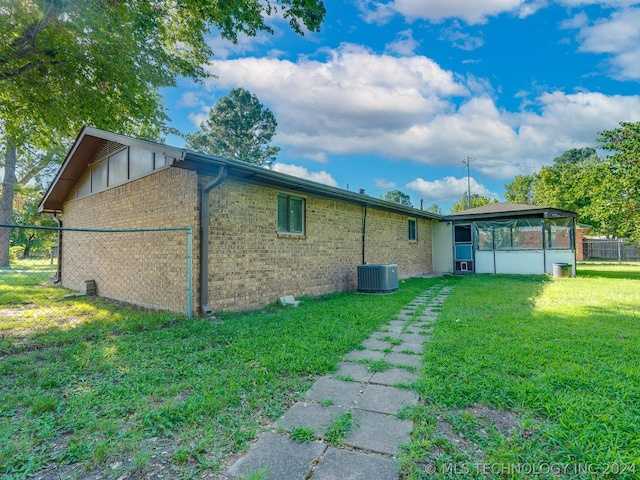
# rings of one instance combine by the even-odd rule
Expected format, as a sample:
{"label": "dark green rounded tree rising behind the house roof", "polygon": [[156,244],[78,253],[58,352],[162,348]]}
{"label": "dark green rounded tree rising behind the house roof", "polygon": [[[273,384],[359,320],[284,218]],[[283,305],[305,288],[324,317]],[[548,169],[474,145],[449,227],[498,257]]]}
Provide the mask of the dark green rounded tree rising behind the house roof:
{"label": "dark green rounded tree rising behind the house roof", "polygon": [[187,148],[269,166],[279,147],[269,145],[278,126],[271,110],[244,88],[234,88],[209,111],[200,131],[187,135]]}

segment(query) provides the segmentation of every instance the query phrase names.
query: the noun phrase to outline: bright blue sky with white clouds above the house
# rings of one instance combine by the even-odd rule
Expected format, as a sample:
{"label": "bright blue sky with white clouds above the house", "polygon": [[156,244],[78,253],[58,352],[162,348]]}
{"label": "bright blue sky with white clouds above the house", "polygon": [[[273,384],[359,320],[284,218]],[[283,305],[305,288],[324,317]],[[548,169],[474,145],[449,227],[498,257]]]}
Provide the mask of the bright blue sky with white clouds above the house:
{"label": "bright blue sky with white clouds above the house", "polygon": [[[640,121],[640,1],[325,0],[319,33],[232,44],[212,35],[204,84],[163,92],[199,128],[235,87],[278,120],[274,169],[372,196],[399,189],[448,212],[598,132]],[[182,146],[179,137],[168,143]]]}

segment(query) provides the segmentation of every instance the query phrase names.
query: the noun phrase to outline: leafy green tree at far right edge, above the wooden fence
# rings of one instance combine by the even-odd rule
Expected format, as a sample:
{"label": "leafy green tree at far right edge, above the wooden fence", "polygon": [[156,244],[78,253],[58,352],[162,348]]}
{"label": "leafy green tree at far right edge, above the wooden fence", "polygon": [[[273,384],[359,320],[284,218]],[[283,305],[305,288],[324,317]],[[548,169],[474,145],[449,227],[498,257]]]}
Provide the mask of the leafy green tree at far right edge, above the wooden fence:
{"label": "leafy green tree at far right edge, above the wooden fence", "polygon": [[588,212],[608,233],[640,241],[640,122],[621,122],[600,132],[598,142],[611,152],[605,159],[609,176],[597,180]]}

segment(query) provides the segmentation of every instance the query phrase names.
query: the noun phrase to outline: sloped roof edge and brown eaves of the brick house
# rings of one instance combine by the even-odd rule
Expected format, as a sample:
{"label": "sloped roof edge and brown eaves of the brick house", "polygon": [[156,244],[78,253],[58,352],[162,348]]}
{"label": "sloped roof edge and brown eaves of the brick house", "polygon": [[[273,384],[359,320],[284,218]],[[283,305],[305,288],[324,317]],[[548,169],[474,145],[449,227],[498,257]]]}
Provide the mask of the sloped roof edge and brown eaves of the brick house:
{"label": "sloped roof edge and brown eaves of the brick house", "polygon": [[75,184],[85,172],[89,162],[93,161],[101,149],[108,143],[134,146],[163,154],[170,159],[171,165],[178,168],[194,170],[206,175],[217,174],[221,166],[227,168],[228,177],[261,185],[284,188],[301,193],[314,194],[326,198],[341,200],[357,205],[366,205],[380,210],[402,213],[408,216],[439,220],[442,215],[405,207],[349,190],[331,187],[285,173],[275,172],[250,163],[229,158],[194,152],[184,148],[176,148],[155,142],[139,140],[125,135],[106,132],[92,127],[84,127],[67,157],[62,163],[51,185],[47,189],[40,205],[41,212],[61,212],[66,198]]}

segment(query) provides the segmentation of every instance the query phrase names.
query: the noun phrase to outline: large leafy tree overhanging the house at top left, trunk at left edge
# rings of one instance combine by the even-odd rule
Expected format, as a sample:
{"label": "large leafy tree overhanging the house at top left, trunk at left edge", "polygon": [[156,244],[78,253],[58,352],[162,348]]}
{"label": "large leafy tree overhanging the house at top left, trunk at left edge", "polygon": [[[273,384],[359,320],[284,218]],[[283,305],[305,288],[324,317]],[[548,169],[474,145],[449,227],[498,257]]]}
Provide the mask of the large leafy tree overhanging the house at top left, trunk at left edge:
{"label": "large leafy tree overhanging the house at top left, trunk at left edge", "polygon": [[[83,124],[157,139],[167,120],[158,90],[206,76],[211,29],[231,40],[271,32],[265,19],[276,13],[302,34],[319,29],[325,8],[322,0],[0,0],[0,222],[11,219],[26,147],[46,150]],[[0,265],[8,236],[0,228]]]}

